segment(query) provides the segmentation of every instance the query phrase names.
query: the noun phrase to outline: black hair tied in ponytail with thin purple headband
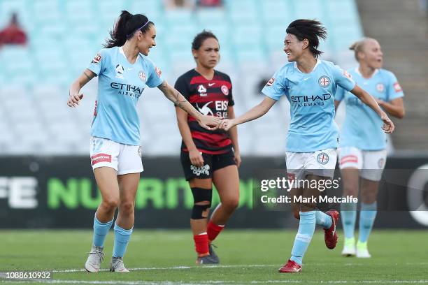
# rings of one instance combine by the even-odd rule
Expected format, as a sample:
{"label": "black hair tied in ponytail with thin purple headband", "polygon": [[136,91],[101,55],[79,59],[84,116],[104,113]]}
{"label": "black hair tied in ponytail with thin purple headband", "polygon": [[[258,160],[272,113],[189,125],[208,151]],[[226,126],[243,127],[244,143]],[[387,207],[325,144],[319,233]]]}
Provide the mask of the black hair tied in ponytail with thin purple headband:
{"label": "black hair tied in ponytail with thin purple headband", "polygon": [[144,34],[152,25],[153,22],[149,21],[145,15],[132,15],[127,10],[122,10],[119,20],[117,20],[114,29],[110,31],[110,38],[106,40],[104,47],[121,47],[127,39],[134,36],[136,31],[142,31]]}

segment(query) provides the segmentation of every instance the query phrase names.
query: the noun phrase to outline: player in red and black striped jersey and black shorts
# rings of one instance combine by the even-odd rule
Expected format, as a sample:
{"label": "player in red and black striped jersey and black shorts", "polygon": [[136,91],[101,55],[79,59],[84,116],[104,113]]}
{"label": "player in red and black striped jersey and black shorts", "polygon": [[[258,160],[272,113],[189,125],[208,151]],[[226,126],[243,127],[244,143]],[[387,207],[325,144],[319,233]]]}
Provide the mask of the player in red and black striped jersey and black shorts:
{"label": "player in red and black striped jersey and black shorts", "polygon": [[[202,114],[233,119],[234,99],[229,75],[214,68],[220,59],[220,45],[214,34],[202,31],[192,43],[196,68],[178,78],[176,89]],[[192,115],[176,108],[178,128],[183,143],[181,164],[186,180],[192,189],[194,206],[190,219],[197,263],[219,263],[211,242],[224,228],[238,206],[241,163],[238,147],[238,131],[208,131],[202,129]],[[207,225],[213,195],[213,183],[221,203]]]}

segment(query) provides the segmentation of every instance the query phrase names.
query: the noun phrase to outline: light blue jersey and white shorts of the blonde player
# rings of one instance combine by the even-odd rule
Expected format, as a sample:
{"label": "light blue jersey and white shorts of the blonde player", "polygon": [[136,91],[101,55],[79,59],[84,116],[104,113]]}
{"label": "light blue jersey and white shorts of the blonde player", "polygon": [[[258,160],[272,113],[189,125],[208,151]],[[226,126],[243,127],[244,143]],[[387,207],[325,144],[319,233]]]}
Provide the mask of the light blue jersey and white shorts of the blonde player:
{"label": "light blue jersey and white shorts of the blonde player", "polygon": [[[395,75],[378,69],[371,78],[363,78],[358,68],[349,73],[352,79],[374,98],[388,102],[404,96]],[[378,181],[386,160],[386,135],[381,129],[382,119],[368,105],[342,88],[336,101],[345,101],[345,122],[341,129],[339,166],[362,169],[360,175]]]}

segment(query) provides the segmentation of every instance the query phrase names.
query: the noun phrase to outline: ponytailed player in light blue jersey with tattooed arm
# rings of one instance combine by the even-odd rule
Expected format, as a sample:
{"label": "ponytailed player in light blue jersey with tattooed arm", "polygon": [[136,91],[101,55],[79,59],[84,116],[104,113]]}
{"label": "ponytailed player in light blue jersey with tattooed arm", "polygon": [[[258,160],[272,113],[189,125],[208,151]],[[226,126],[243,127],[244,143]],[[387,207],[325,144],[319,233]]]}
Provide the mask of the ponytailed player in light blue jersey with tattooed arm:
{"label": "ponytailed player in light blue jersey with tattooed arm", "polygon": [[189,112],[201,126],[211,129],[220,119],[201,115],[176,89],[161,78],[159,68],[147,58],[155,46],[155,24],[141,14],[122,11],[111,38],[92,59],[90,66],[70,87],[67,104],[79,105],[80,89],[95,76],[99,88],[92,121],[90,156],[101,204],[94,217],[92,249],[85,263],[89,272],[98,272],[104,258],[104,240],[113,224],[115,242],[110,271],[128,272],[124,252],[134,226],[134,200],[141,163],[140,127],[136,103],[145,85],[158,87],[178,108]]}

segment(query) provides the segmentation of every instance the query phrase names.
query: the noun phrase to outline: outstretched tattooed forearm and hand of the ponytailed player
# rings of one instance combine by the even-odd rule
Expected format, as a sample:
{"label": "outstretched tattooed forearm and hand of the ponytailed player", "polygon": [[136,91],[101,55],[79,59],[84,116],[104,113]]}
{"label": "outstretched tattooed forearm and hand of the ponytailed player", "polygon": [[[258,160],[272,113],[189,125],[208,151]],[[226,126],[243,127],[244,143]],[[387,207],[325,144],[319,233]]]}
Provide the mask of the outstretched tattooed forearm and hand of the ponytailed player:
{"label": "outstretched tattooed forearm and hand of the ponytailed player", "polygon": [[200,112],[198,112],[192,104],[189,103],[189,101],[186,100],[186,98],[178,92],[177,89],[172,87],[164,80],[161,85],[159,85],[157,88],[159,88],[162,93],[164,93],[165,97],[168,98],[170,101],[172,101],[178,108],[181,108],[185,110],[189,115],[197,119],[198,123],[208,130],[215,130],[217,129],[217,126],[220,124],[221,120],[214,116],[206,116],[202,115]]}

